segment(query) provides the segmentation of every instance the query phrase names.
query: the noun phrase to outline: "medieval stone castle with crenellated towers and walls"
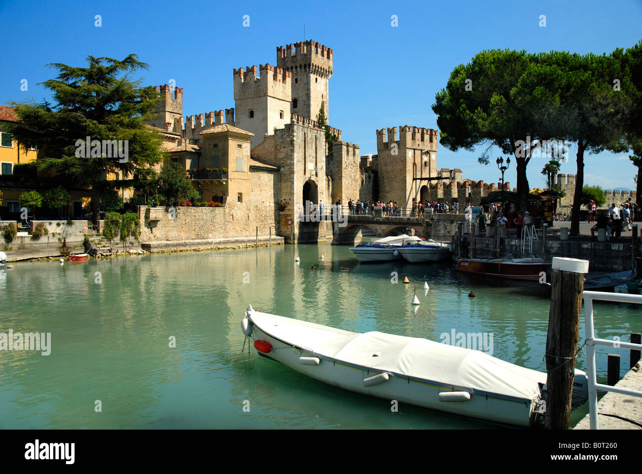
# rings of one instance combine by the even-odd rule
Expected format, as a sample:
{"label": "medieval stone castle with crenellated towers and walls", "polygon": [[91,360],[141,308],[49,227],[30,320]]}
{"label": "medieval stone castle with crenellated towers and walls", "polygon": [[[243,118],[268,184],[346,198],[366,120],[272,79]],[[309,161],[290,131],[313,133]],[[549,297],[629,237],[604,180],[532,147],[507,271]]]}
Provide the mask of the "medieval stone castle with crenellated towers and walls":
{"label": "medieval stone castle with crenellated towers and walls", "polygon": [[170,160],[184,166],[203,200],[223,204],[232,220],[238,213],[250,226],[273,225],[286,241],[332,236],[329,222],[300,222],[308,200],[411,207],[426,200],[474,203],[495,190],[462,179],[458,168],[438,169],[438,132],[430,128],[376,130],[376,155],[360,155],[342,130],[330,128],[338,140],[329,150],[316,118],[321,109],[331,118],[333,55],[312,40],[279,46],[276,66],[233,69],[234,108],[198,116],[183,117],[183,89],[157,86],[164,100],[149,125],[162,132]]}

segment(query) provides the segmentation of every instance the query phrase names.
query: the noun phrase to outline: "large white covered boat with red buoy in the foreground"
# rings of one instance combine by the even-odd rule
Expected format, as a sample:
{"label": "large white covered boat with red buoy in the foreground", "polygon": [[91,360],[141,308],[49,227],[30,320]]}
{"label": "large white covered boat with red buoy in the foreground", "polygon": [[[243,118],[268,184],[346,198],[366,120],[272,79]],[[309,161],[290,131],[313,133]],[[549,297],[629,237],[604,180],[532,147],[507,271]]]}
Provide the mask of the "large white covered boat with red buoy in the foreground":
{"label": "large white covered boat with red buoy in the foreground", "polygon": [[[259,355],[343,390],[458,415],[531,425],[545,410],[546,373],[463,347],[372,331],[352,333],[257,312],[241,322]],[[573,401],[587,398],[575,371]]]}

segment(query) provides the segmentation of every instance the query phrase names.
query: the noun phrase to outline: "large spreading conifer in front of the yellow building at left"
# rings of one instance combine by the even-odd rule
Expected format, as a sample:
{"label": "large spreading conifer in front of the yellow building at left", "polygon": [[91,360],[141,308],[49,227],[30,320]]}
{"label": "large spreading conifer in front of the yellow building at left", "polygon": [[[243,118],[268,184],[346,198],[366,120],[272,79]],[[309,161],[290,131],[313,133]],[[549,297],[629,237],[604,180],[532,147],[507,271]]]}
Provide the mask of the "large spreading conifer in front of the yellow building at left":
{"label": "large spreading conifer in front of the yellow building at left", "polygon": [[[91,189],[92,220],[97,222],[103,191],[115,183],[124,185],[108,181],[109,173],[125,177],[160,161],[160,134],[145,125],[159,98],[152,87],[141,88],[140,81],[130,79],[149,68],[136,55],[123,60],[89,56],[87,62],[87,67],[50,64],[58,76],[44,87],[53,93],[55,105],[14,104],[20,121],[6,128],[24,148],[39,148],[39,170],[55,171],[61,179]],[[83,156],[81,141],[87,137],[92,145],[89,156]],[[121,141],[125,156],[111,148],[114,141]]]}

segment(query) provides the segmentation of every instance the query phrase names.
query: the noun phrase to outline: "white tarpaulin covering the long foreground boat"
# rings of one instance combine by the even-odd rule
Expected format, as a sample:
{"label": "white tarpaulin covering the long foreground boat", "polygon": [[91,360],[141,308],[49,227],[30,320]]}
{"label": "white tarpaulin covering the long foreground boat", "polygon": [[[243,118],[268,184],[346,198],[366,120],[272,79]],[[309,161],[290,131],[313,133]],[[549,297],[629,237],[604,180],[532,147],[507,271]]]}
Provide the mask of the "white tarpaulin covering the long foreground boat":
{"label": "white tarpaulin covering the long foreground boat", "polygon": [[249,316],[266,333],[313,355],[447,388],[533,400],[540,394],[538,383],[546,383],[546,373],[482,351],[377,331],[350,333],[268,313],[250,312]]}

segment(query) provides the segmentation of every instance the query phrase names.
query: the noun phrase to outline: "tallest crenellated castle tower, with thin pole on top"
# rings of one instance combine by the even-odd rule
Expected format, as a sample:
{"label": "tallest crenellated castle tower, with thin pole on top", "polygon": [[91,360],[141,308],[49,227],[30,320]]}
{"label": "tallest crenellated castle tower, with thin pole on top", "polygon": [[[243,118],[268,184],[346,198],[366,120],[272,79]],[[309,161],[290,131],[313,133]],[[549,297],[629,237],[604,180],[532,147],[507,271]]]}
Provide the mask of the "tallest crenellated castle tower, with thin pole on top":
{"label": "tallest crenellated castle tower, with thin pole on top", "polygon": [[313,40],[277,48],[277,66],[292,75],[291,112],[317,119],[321,105],[329,121],[329,79],[333,50]]}

